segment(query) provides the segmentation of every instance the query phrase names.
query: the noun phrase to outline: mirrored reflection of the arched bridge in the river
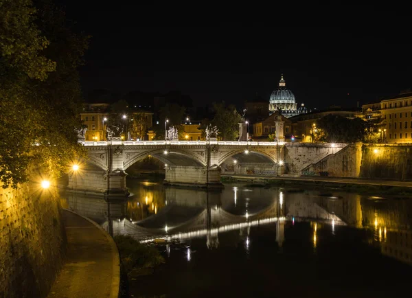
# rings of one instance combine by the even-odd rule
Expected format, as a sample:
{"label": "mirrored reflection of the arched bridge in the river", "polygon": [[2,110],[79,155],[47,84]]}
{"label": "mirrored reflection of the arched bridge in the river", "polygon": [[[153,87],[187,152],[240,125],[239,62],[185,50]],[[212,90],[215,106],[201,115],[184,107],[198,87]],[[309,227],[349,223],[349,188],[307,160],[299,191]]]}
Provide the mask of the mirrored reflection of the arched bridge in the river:
{"label": "mirrored reflection of the arched bridge in the river", "polygon": [[256,225],[277,222],[277,240],[282,243],[284,222],[288,218],[330,223],[333,220],[335,225],[345,225],[334,211],[328,209],[331,206],[322,206],[319,197],[262,188],[227,187],[222,192],[205,192],[168,187],[164,190],[163,207],[139,220],[128,216],[127,206],[146,204],[155,207],[152,200],[148,200],[147,192],[144,193],[146,201],[140,198],[140,203],[133,204],[79,194],[67,196],[71,209],[99,222],[110,233],[146,241],[207,236],[208,244],[213,247],[218,243],[218,233],[249,230]]}

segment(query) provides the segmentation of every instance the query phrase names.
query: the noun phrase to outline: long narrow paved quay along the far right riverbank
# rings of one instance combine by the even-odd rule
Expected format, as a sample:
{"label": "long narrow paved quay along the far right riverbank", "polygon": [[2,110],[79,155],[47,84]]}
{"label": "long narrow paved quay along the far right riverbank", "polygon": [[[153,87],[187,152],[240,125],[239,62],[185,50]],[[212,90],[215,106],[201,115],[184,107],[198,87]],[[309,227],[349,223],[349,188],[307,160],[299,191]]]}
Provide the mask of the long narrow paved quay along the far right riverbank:
{"label": "long narrow paved quay along the far right riverbank", "polygon": [[385,186],[397,186],[397,187],[412,187],[412,181],[395,181],[395,180],[382,180],[382,179],[361,179],[361,178],[342,178],[342,177],[323,177],[323,176],[253,176],[253,175],[222,175],[231,176],[236,179],[247,180],[287,180],[287,181],[312,181],[327,182],[327,183],[345,183],[345,184],[362,184],[362,185],[385,185]]}

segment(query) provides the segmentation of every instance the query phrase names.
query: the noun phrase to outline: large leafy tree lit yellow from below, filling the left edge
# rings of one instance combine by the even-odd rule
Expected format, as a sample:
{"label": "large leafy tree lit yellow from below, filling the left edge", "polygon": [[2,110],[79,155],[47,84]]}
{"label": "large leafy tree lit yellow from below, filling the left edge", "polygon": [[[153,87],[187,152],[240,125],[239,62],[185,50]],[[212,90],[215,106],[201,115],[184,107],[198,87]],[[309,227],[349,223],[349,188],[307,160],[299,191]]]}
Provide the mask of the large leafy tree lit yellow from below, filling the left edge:
{"label": "large leafy tree lit yellow from below, filling the left edge", "polygon": [[[89,36],[67,27],[50,1],[0,1],[0,176],[3,187],[27,181],[30,161],[58,177],[78,145],[77,68]],[[34,146],[37,145],[37,146]]]}

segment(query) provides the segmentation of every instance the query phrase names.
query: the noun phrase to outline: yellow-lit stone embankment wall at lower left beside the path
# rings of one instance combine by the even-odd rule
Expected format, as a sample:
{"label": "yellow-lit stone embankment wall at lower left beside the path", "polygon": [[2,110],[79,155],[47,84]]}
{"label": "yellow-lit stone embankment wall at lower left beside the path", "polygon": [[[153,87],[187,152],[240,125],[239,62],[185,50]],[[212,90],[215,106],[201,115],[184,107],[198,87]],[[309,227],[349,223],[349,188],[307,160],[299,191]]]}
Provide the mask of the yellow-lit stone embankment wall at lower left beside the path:
{"label": "yellow-lit stone embankment wall at lower left beside the path", "polygon": [[62,266],[65,239],[56,187],[0,185],[0,297],[46,297]]}

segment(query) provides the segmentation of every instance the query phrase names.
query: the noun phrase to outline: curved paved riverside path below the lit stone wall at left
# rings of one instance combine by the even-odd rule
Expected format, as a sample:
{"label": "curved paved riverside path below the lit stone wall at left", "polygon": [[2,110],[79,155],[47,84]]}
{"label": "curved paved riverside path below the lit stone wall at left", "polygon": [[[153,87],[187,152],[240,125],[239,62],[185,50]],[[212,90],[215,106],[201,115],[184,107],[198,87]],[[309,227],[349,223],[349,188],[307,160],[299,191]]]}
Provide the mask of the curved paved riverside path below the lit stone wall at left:
{"label": "curved paved riverside path below the lit stone wall at left", "polygon": [[119,293],[119,253],[97,224],[63,210],[67,233],[66,264],[47,298],[115,298]]}

